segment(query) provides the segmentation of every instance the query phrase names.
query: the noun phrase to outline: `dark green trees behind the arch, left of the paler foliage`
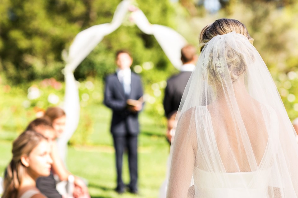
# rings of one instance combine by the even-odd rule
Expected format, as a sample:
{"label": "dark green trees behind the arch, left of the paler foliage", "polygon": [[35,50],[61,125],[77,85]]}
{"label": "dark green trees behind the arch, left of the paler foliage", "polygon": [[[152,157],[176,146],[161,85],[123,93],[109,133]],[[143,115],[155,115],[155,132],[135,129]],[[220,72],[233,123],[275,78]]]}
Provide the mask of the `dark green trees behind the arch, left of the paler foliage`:
{"label": "dark green trees behind the arch, left of the paler foliage", "polygon": [[[110,23],[119,0],[3,0],[0,5],[0,71],[9,80],[20,83],[56,76],[64,66],[61,51],[70,46],[80,31],[97,24]],[[139,4],[138,4],[139,3]],[[135,3],[153,24],[174,26],[174,10],[167,1],[148,0]],[[126,48],[135,62],[153,61],[164,68],[169,62],[152,36],[142,33],[126,20],[76,71],[78,78],[102,76],[114,65],[114,53]],[[98,56],[98,57],[97,57]]]}

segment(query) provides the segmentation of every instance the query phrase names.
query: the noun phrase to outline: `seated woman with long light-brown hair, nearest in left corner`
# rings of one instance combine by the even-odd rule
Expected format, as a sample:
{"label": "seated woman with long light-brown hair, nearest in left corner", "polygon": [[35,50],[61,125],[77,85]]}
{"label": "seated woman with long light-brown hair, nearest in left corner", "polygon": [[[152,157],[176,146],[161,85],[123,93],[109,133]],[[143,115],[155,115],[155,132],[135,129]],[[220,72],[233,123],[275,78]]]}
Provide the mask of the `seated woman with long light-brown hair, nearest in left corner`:
{"label": "seated woman with long light-brown hair, nearest in left corner", "polygon": [[50,174],[51,164],[47,139],[34,131],[23,132],[13,142],[2,198],[46,198],[35,187],[35,181]]}

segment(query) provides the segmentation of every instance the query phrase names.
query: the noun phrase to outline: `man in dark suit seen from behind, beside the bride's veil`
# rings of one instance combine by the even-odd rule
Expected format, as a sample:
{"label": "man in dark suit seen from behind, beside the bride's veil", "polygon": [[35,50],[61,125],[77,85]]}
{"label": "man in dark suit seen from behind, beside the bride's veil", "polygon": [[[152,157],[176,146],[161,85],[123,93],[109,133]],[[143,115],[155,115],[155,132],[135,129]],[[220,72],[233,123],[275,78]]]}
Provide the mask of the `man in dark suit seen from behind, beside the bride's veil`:
{"label": "man in dark suit seen from behind, beside the bride's veil", "polygon": [[189,80],[198,56],[196,48],[192,45],[186,45],[181,49],[181,61],[183,65],[180,68],[180,73],[169,78],[165,88],[165,97],[163,101],[165,116],[168,119],[167,138],[171,142],[172,129],[174,127],[175,116],[179,108],[182,95],[186,84]]}

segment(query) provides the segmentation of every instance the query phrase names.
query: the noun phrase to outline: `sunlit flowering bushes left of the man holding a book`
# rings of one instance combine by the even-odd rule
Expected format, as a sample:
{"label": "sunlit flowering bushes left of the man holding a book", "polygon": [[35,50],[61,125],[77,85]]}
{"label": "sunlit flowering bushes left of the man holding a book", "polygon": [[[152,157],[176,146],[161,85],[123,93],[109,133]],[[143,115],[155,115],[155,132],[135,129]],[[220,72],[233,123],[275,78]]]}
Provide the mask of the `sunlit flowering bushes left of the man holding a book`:
{"label": "sunlit flowering bushes left of the man holding a book", "polygon": [[[78,82],[80,95],[80,122],[71,144],[86,144],[88,135],[93,131],[92,119],[84,109],[90,103],[102,100],[98,89],[92,81]],[[97,82],[95,83],[97,86]],[[97,88],[102,91],[99,84]],[[42,117],[43,112],[50,106],[63,107],[65,85],[54,78],[34,81],[30,84],[10,86],[1,82],[0,95],[0,130],[22,132],[28,123],[36,117]]]}

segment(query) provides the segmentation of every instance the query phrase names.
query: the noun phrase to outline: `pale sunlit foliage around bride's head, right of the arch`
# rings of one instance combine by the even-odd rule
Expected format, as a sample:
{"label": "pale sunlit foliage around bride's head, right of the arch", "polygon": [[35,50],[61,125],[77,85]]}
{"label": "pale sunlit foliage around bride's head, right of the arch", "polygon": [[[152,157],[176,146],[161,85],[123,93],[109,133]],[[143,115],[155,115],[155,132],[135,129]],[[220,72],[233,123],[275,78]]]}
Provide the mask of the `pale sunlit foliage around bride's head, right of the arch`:
{"label": "pale sunlit foliage around bride's head, right of the arch", "polygon": [[192,17],[185,21],[183,29],[178,26],[178,30],[188,38],[197,40],[201,29],[219,18],[237,19],[246,25],[254,38],[255,48],[276,82],[289,117],[296,118],[298,116],[296,89],[298,86],[298,2],[230,0],[218,13],[205,12]]}

